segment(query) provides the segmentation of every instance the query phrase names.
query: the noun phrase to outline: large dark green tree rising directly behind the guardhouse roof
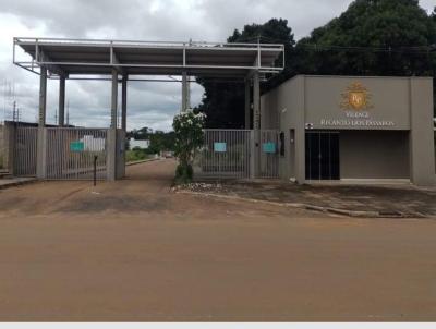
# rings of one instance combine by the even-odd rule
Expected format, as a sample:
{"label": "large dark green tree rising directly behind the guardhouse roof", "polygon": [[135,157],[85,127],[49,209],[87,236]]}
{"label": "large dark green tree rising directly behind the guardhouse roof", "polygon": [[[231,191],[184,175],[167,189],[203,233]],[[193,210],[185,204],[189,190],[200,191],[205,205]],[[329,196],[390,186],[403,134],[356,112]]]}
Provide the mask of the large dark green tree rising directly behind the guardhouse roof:
{"label": "large dark green tree rising directly behind the guardhouse roof", "polygon": [[417,0],[356,0],[296,45],[304,74],[433,75],[435,21]]}

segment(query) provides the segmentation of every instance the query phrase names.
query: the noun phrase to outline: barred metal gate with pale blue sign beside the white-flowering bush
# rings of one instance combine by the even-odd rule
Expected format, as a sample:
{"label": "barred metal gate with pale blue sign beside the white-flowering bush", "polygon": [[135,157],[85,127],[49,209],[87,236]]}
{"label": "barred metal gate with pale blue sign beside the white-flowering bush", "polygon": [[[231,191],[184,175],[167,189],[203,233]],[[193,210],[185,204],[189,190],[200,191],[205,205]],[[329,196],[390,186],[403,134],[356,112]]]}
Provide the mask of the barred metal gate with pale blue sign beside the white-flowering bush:
{"label": "barred metal gate with pale blue sign beside the white-flowering bush", "polygon": [[252,131],[205,130],[204,134],[204,145],[194,161],[196,176],[250,178]]}

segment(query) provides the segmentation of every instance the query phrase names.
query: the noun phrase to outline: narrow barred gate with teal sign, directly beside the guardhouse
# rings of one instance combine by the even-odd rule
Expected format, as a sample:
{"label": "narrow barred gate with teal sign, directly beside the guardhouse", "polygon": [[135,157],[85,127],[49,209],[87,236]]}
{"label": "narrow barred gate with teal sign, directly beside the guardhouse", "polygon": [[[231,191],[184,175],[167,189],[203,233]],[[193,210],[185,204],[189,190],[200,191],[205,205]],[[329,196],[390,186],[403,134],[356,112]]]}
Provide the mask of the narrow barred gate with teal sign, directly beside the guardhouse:
{"label": "narrow barred gate with teal sign, directly beside the guardhouse", "polygon": [[275,130],[261,131],[259,178],[262,179],[276,179],[279,176],[278,134],[278,131]]}

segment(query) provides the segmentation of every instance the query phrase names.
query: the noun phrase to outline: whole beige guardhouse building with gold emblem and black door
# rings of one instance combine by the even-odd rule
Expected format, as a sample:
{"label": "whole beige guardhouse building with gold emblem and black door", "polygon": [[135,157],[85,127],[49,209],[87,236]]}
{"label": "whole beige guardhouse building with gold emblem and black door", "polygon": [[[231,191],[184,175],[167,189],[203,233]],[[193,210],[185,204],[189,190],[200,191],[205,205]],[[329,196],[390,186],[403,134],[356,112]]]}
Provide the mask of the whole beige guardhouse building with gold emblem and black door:
{"label": "whole beige guardhouse building with gold emblem and black door", "polygon": [[299,75],[265,94],[279,176],[435,183],[433,78]]}

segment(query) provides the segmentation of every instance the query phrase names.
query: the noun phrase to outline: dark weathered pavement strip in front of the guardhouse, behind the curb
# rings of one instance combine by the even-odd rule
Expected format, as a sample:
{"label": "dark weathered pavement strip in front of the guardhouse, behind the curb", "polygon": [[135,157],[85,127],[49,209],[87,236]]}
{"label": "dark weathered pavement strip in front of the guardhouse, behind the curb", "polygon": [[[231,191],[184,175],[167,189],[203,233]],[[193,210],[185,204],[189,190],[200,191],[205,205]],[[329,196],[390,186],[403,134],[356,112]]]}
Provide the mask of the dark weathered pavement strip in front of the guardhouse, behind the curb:
{"label": "dark weathered pavement strip in front of the guardhouse, behind the curb", "polygon": [[180,191],[352,217],[436,218],[436,188],[410,185],[296,185],[279,181],[196,182]]}

